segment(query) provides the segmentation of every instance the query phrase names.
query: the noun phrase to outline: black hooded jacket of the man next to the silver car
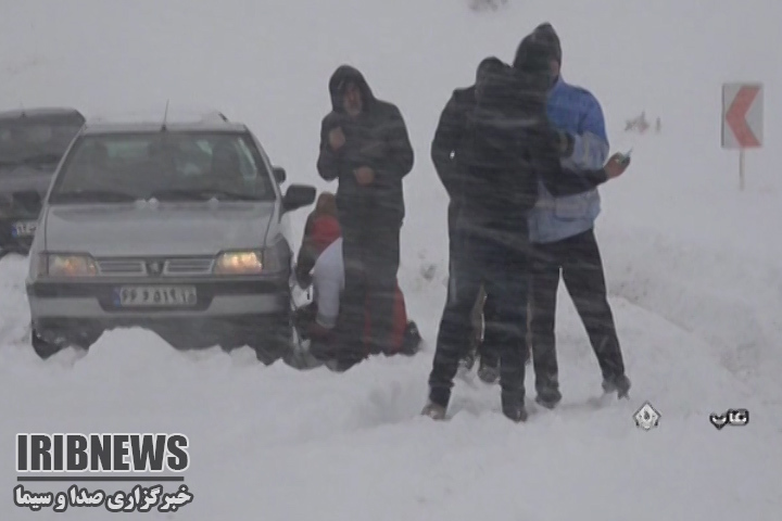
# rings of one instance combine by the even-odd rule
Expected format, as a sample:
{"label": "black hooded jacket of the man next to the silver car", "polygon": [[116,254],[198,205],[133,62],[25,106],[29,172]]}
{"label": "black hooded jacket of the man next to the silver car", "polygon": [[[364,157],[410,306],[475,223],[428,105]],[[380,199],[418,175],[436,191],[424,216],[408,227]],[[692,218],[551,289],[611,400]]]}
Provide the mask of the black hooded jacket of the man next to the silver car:
{"label": "black hooded jacket of the man next to the silver car", "polygon": [[[342,109],[342,86],[355,81],[364,107],[356,118]],[[327,181],[339,180],[337,206],[343,226],[401,224],[405,215],[402,179],[413,169],[413,147],[404,118],[396,105],[375,98],[364,76],[342,65],[329,80],[331,112],[320,126],[320,155],[317,169]],[[345,144],[338,151],[329,145],[329,131],[341,127]],[[375,170],[371,185],[362,187],[353,170],[368,166]]]}

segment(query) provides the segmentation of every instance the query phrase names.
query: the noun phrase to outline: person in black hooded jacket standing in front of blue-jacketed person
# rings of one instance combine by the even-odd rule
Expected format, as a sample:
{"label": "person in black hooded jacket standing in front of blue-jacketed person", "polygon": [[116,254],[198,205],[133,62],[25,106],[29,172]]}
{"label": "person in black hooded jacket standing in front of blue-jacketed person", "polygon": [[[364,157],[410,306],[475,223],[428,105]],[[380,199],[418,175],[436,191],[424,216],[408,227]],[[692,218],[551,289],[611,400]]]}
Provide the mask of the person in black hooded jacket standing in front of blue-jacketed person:
{"label": "person in black hooded jacket standing in front of blue-jacketed person", "polygon": [[527,317],[519,298],[524,302],[528,294],[527,220],[537,199],[537,176],[553,193],[567,195],[590,190],[627,168],[616,155],[605,168],[592,173],[564,171],[559,156],[570,140],[547,124],[545,97],[552,77],[544,52],[530,36],[519,46],[515,68],[499,60],[484,61],[478,71],[475,101],[451,104],[462,106],[467,117],[441,117],[441,125],[454,122],[464,128],[446,131],[463,132],[463,137],[455,150],[443,154],[453,154],[456,164],[439,170],[441,176],[453,176],[443,183],[452,200],[459,202],[452,221],[459,240],[429,374],[428,402],[421,411],[433,419],[444,419],[459,360],[469,351],[470,312],[481,284],[495,298],[503,414],[513,421],[527,419]]}

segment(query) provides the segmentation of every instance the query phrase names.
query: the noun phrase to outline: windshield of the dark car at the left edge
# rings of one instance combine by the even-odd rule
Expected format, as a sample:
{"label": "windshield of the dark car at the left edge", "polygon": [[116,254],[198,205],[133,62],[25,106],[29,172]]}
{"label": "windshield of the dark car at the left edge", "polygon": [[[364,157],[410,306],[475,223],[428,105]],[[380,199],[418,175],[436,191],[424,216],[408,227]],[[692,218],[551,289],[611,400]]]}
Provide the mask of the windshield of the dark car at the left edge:
{"label": "windshield of the dark car at the left edge", "polygon": [[56,165],[83,123],[79,114],[0,119],[0,168]]}

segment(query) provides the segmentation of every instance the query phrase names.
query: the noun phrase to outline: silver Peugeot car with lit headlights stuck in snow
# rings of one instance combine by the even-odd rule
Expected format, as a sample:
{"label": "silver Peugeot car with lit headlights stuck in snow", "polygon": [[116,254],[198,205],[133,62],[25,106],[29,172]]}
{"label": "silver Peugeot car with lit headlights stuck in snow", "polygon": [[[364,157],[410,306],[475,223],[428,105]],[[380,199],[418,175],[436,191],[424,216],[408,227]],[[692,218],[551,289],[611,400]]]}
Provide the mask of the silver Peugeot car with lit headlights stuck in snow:
{"label": "silver Peugeot car with lit headlights stuck in snow", "polygon": [[31,343],[47,358],[142,327],[178,348],[292,348],[289,213],[315,200],[247,126],[87,123],[30,246]]}

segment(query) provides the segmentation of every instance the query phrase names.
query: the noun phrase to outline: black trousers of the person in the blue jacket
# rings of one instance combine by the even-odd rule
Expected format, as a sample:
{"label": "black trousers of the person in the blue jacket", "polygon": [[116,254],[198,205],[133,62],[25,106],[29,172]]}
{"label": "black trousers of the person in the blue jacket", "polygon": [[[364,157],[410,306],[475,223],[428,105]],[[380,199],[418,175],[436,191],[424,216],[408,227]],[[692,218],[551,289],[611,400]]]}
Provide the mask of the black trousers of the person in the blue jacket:
{"label": "black trousers of the person in the blue jacket", "polygon": [[531,258],[532,364],[535,386],[556,389],[558,367],[554,321],[559,274],[589,334],[603,378],[625,374],[625,363],[594,231],[565,240],[535,244]]}

